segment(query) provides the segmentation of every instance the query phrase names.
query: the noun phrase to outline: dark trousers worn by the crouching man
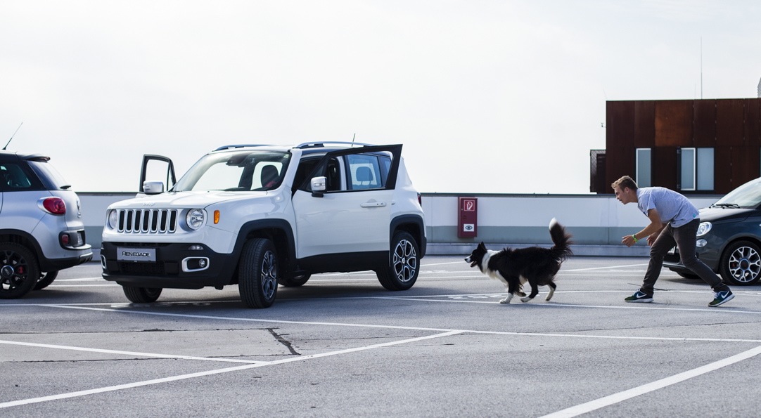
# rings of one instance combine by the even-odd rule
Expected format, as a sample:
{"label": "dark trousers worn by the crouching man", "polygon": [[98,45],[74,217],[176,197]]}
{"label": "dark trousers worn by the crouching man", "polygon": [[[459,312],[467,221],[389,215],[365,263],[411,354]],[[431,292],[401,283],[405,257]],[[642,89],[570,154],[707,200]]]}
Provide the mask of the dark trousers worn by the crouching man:
{"label": "dark trousers worn by the crouching man", "polygon": [[653,294],[653,287],[655,286],[655,280],[658,280],[658,276],[661,275],[661,268],[664,264],[664,255],[668,250],[672,249],[674,245],[677,245],[679,249],[680,258],[682,258],[682,264],[684,267],[689,268],[693,273],[697,274],[705,283],[715,292],[721,290],[728,290],[729,287],[721,281],[721,277],[718,277],[711,268],[708,268],[705,263],[700,261],[695,256],[695,241],[698,233],[698,226],[700,225],[700,219],[696,218],[687,223],[686,225],[674,228],[671,223],[668,223],[666,227],[658,235],[658,238],[653,242],[653,246],[650,248],[650,264],[648,264],[648,271],[645,272],[645,280],[642,282],[640,290],[648,295]]}

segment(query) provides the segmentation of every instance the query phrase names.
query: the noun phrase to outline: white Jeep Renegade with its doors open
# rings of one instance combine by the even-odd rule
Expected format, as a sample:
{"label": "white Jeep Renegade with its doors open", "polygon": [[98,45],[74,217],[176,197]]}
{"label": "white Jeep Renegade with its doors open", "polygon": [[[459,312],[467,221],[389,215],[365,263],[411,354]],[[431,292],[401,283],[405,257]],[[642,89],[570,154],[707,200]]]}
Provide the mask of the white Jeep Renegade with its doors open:
{"label": "white Jeep Renegade with its doors open", "polygon": [[[251,308],[275,302],[278,285],[311,274],[375,271],[407,290],[425,255],[420,195],[402,145],[324,142],[231,145],[206,154],[174,183],[166,157],[145,155],[141,193],[107,209],[103,278],[132,302],[163,288],[237,284]],[[164,181],[145,181],[149,165]]]}

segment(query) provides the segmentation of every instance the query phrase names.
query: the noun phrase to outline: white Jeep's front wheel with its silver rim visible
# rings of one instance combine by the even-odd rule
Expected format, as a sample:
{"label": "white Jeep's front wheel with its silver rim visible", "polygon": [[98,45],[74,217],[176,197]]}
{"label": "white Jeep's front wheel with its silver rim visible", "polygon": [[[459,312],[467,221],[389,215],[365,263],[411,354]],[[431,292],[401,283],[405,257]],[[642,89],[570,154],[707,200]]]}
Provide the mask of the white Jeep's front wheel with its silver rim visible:
{"label": "white Jeep's front wheel with its silver rim visible", "polygon": [[269,308],[278,294],[278,254],[269,239],[250,239],[238,262],[240,300],[249,308]]}

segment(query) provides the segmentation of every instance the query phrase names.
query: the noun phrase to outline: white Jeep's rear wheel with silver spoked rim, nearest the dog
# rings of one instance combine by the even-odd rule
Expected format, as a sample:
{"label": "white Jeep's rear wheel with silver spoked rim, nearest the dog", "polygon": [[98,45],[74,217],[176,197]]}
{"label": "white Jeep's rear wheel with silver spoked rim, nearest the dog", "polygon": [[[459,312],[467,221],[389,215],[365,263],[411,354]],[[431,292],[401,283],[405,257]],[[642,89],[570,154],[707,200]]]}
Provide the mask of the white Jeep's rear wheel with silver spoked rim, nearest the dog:
{"label": "white Jeep's rear wheel with silver spoked rim, nearest the dog", "polygon": [[418,280],[420,273],[419,246],[411,234],[393,234],[389,265],[375,271],[380,284],[387,290],[407,290]]}

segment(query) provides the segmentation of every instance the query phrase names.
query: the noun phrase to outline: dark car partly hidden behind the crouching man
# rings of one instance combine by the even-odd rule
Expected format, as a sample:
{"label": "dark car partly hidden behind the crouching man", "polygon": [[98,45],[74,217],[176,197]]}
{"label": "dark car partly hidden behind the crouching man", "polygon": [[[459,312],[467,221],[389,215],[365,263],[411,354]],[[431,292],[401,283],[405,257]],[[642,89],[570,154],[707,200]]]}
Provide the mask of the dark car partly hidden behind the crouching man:
{"label": "dark car partly hidden behind the crouching man", "polygon": [[[726,283],[747,285],[761,278],[761,178],[735,188],[700,209],[696,255]],[[684,267],[676,248],[664,267],[682,277],[697,277]]]}

